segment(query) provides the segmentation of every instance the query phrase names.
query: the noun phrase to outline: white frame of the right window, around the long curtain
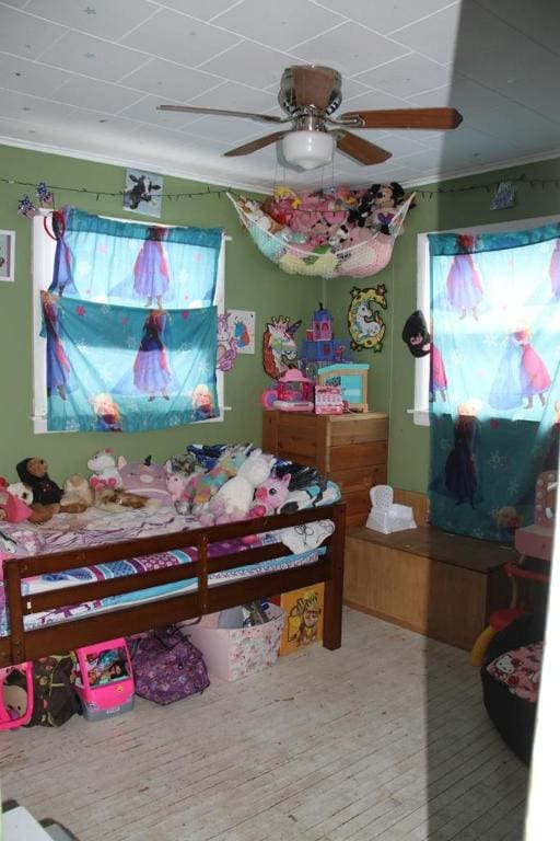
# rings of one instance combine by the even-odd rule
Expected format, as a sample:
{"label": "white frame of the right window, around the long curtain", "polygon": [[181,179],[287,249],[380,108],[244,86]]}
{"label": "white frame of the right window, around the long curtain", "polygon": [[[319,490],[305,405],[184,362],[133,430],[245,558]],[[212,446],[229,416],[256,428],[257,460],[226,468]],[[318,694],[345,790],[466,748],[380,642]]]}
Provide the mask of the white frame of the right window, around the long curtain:
{"label": "white frame of the right window, around the long curtain", "polygon": [[[492,233],[493,231],[523,231],[560,221],[560,215],[513,219],[508,222],[477,224],[469,228],[450,228],[446,231],[425,231],[417,235],[416,306],[430,324],[430,241],[431,233]],[[415,359],[415,407],[411,410],[417,426],[430,426],[430,355]]]}

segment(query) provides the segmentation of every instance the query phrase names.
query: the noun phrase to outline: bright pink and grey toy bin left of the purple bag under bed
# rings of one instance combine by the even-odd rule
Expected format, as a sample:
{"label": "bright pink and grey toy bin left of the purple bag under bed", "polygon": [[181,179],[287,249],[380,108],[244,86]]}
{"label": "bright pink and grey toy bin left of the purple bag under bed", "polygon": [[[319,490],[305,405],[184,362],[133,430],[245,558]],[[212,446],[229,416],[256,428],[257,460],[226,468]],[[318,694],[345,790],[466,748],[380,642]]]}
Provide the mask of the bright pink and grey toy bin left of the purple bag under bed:
{"label": "bright pink and grey toy bin left of the purple bag under bed", "polygon": [[80,672],[74,689],[89,722],[120,715],[135,705],[135,680],[126,641],[107,640],[75,649]]}

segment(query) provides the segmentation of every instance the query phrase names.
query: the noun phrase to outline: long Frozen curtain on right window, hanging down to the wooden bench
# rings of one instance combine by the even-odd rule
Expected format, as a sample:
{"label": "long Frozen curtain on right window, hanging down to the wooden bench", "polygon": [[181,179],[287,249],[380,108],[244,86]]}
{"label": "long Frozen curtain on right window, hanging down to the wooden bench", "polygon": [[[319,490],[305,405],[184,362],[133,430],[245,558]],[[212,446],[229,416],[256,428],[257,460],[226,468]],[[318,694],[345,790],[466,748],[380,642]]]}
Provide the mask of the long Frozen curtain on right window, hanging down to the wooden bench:
{"label": "long Frozen curtain on right window, hanging down to the wooden bench", "polygon": [[430,519],[511,540],[557,468],[560,226],[429,240]]}

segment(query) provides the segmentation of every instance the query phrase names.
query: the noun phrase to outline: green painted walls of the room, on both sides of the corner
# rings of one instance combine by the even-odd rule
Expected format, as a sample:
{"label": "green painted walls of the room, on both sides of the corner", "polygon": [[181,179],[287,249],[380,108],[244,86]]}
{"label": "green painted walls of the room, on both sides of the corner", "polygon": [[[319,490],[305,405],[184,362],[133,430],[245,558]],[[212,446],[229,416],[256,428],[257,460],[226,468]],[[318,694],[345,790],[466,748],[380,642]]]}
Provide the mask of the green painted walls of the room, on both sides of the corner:
{"label": "green painted walls of the room, on both sides of the corner", "polygon": [[[35,454],[49,461],[50,475],[61,484],[70,473],[85,474],[86,460],[107,446],[127,459],[151,454],[154,461],[163,461],[183,452],[185,446],[194,441],[260,443],[259,395],[270,385],[270,380],[258,353],[238,355],[228,372],[225,405],[231,410],[221,423],[115,434],[108,439],[102,433],[33,433],[32,231],[30,220],[18,215],[18,201],[24,191],[15,182],[45,182],[49,187],[67,185],[71,189],[57,186],[55,191],[58,207],[70,204],[88,212],[127,218],[127,211],[122,210],[125,171],[124,166],[0,146],[0,229],[14,230],[18,241],[18,283],[0,285],[0,475],[10,482],[15,481],[15,463]],[[364,181],[371,180],[371,175],[364,173]],[[256,333],[261,335],[271,313],[281,312],[290,321],[302,319],[307,323],[317,300],[322,300],[334,315],[338,336],[342,337],[346,327],[341,325],[347,323],[349,296],[355,279],[287,275],[262,256],[240,228],[225,188],[162,175],[165,180],[162,224],[222,227],[232,237],[225,252],[228,309],[255,311]],[[515,207],[491,210],[489,194],[501,181],[515,183]],[[553,159],[416,188],[416,208],[407,217],[406,231],[395,243],[392,262],[375,277],[376,283],[386,287],[389,297],[384,316],[385,353],[364,350],[360,354],[360,361],[370,364],[370,410],[389,415],[390,484],[425,492],[428,481],[428,429],[415,426],[409,413],[413,403],[415,360],[400,338],[406,319],[417,308],[417,235],[557,214],[559,183],[560,159]],[[135,218],[138,221],[138,215]],[[363,279],[364,288],[368,280]]]}

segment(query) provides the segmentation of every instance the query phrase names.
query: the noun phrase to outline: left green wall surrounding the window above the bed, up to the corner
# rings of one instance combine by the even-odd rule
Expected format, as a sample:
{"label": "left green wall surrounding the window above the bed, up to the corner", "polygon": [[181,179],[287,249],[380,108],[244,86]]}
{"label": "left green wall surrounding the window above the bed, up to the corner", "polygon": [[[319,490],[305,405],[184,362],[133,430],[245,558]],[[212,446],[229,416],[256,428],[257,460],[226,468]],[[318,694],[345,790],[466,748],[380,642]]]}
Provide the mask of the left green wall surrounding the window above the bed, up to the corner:
{"label": "left green wall surrounding the window above the bed, up to the corner", "polygon": [[[125,169],[89,161],[44,154],[0,146],[0,176],[49,186],[82,187],[118,193],[125,184]],[[206,186],[164,175],[165,193],[200,192]],[[211,187],[210,189],[217,189]],[[155,461],[183,452],[190,442],[254,441],[261,439],[260,392],[269,380],[262,370],[260,337],[270,315],[288,315],[307,323],[316,309],[320,281],[285,275],[266,260],[240,226],[230,200],[224,196],[163,199],[161,222],[222,227],[233,238],[225,251],[226,307],[256,312],[256,353],[240,355],[225,375],[225,413],[223,423],[184,426],[155,433],[137,433],[107,438],[103,434],[34,435],[32,415],[32,278],[31,221],[18,216],[18,200],[24,193],[32,198],[35,187],[0,183],[0,229],[15,231],[15,283],[0,284],[0,475],[16,480],[15,464],[31,456],[43,456],[49,473],[59,484],[72,473],[85,473],[86,460],[97,449],[110,446],[127,459],[151,454]],[[141,221],[149,217],[122,210],[120,196],[100,196],[56,189],[58,207],[71,204],[94,214]],[[303,327],[302,327],[303,329]]]}

